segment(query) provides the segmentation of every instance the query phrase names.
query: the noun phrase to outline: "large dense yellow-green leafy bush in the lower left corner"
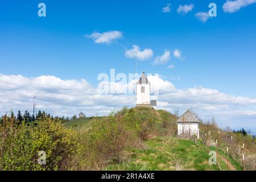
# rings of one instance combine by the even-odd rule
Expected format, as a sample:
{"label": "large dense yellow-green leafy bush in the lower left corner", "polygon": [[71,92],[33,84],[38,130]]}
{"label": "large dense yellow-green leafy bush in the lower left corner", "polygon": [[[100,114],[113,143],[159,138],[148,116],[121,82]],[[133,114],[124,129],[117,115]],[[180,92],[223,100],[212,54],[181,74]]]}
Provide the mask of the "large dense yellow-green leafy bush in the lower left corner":
{"label": "large dense yellow-green leafy bush in the lower left corner", "polygon": [[[68,169],[78,148],[76,134],[58,119],[42,117],[35,126],[0,125],[0,170]],[[38,163],[39,151],[46,152],[46,165]]]}

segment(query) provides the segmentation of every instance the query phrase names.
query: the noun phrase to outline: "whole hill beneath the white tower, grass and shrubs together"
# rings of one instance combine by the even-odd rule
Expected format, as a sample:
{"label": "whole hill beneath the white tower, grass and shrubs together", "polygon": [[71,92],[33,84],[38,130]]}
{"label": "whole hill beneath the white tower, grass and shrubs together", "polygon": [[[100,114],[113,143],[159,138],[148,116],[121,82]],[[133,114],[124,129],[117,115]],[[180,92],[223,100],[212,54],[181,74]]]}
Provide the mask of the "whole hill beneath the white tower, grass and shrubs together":
{"label": "whole hill beneath the white tower, grass and shrubs together", "polygon": [[[123,119],[125,123],[123,123]],[[71,127],[79,135],[88,133],[90,136],[97,135],[97,139],[93,137],[93,142],[105,141],[98,143],[100,146],[95,149],[93,149],[94,144],[90,148],[91,151],[96,150],[97,154],[100,152],[103,155],[102,158],[108,158],[105,161],[106,165],[98,164],[102,166],[101,169],[226,170],[226,143],[220,142],[222,147],[218,149],[218,164],[209,165],[210,156],[208,153],[210,150],[215,151],[216,148],[206,144],[207,140],[205,138],[199,140],[177,138],[177,119],[176,115],[165,110],[135,107],[131,109],[124,108],[117,113],[110,114],[108,117],[76,119],[64,123],[64,126]],[[119,128],[121,125],[123,125],[124,130]],[[200,125],[204,130],[213,126],[204,123]],[[126,129],[127,127],[129,129]],[[137,127],[139,128],[137,129]],[[127,134],[126,130],[131,131],[131,133]],[[141,138],[141,142],[138,142],[138,137],[135,137],[134,134]],[[104,137],[102,138],[100,135]],[[106,142],[109,143],[108,146],[105,145]],[[120,144],[121,147],[118,146]],[[110,148],[108,148],[109,146]],[[106,150],[106,153],[102,150]],[[117,155],[109,154],[117,150]],[[241,170],[241,166],[240,160],[229,156],[229,169]]]}

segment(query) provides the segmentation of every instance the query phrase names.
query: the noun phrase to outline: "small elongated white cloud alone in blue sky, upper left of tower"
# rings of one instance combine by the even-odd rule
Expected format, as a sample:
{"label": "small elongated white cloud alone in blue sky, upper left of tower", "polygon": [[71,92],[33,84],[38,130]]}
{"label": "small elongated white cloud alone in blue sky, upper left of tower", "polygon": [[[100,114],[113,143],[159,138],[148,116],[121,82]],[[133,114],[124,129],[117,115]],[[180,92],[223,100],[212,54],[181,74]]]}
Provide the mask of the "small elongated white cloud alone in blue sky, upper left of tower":
{"label": "small elongated white cloud alone in blue sky, upper left of tower", "polygon": [[107,31],[107,32],[94,32],[93,34],[86,35],[86,37],[93,39],[97,44],[110,44],[114,40],[122,38],[122,32],[120,31]]}

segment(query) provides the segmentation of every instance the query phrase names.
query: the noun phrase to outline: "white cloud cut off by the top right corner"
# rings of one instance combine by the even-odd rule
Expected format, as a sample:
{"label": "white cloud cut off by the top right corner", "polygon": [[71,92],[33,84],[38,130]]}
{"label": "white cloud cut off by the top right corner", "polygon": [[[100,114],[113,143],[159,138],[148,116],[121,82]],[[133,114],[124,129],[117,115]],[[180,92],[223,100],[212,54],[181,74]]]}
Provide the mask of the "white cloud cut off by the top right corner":
{"label": "white cloud cut off by the top right corner", "polygon": [[255,3],[256,0],[235,0],[235,1],[227,1],[222,6],[222,9],[225,13],[235,13],[239,11],[242,7],[249,6]]}

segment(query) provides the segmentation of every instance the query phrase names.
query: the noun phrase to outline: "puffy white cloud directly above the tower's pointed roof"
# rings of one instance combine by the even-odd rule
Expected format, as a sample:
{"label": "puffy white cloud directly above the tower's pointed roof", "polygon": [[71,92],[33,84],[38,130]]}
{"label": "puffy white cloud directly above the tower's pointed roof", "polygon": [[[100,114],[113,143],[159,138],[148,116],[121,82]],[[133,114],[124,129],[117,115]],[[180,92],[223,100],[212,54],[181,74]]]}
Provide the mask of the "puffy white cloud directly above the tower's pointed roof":
{"label": "puffy white cloud directly above the tower's pointed roof", "polygon": [[133,45],[132,49],[126,50],[125,56],[128,58],[137,58],[138,60],[144,61],[150,59],[153,56],[152,49],[144,49],[141,51],[139,46]]}

